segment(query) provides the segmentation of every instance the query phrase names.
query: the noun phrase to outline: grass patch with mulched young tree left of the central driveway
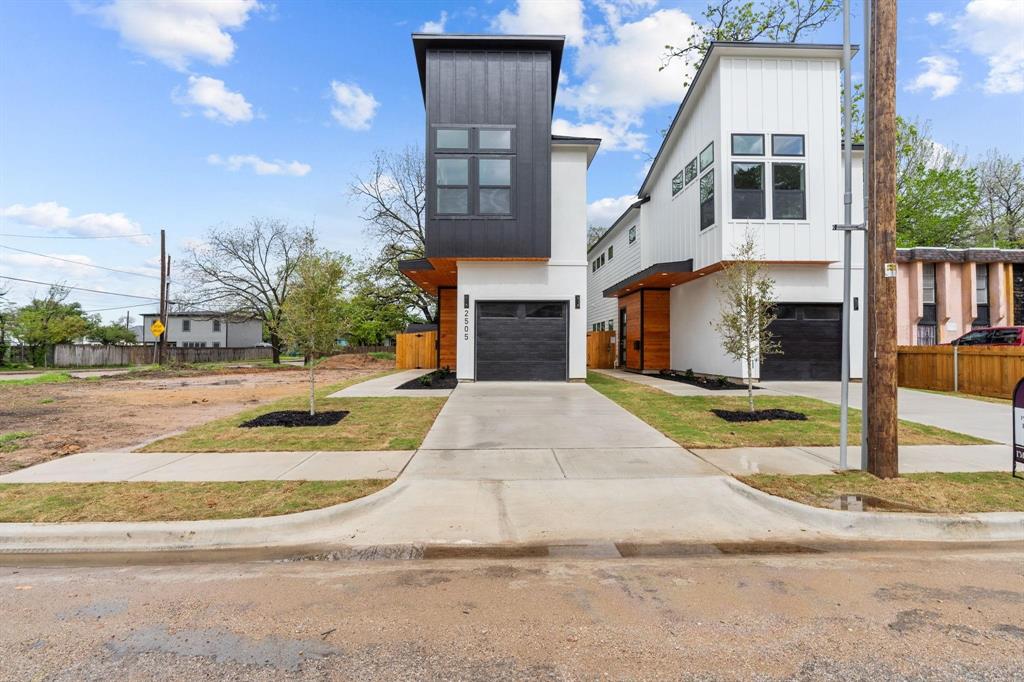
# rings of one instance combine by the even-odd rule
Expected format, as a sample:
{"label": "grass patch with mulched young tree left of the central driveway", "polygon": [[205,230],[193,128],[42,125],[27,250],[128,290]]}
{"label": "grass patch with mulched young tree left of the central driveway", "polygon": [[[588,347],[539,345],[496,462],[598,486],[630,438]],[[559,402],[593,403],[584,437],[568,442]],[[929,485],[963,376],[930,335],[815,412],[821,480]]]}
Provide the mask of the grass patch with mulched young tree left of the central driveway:
{"label": "grass patch with mulched young tree left of the central driveway", "polygon": [[[391,374],[390,372],[384,374]],[[333,426],[262,426],[240,424],[280,410],[308,410],[304,394],[282,398],[193,427],[179,435],[142,447],[147,453],[245,453],[416,450],[430,430],[443,397],[344,397],[330,393],[384,374],[358,377],[316,390],[316,411],[344,410],[349,414]]]}

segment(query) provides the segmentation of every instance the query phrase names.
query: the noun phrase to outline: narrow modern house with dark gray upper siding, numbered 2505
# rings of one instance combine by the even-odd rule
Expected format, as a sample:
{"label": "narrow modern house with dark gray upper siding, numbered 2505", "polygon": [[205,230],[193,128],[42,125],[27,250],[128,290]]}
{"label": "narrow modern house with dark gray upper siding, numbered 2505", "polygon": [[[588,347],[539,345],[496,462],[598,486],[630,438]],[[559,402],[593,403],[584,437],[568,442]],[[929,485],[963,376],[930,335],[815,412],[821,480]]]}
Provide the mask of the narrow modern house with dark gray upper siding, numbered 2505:
{"label": "narrow modern house with dark gray upper siding, numbered 2505", "polygon": [[562,36],[415,34],[426,109],[426,253],[438,364],[461,381],[586,378],[587,170],[553,136]]}

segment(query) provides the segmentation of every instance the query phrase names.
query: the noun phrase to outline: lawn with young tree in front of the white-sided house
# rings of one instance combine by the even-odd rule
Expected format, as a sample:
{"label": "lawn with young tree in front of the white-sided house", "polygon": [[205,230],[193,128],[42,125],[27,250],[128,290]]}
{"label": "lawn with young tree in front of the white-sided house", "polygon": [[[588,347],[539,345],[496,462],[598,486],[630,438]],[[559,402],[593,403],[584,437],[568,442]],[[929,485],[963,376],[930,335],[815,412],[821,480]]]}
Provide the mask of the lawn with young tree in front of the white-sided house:
{"label": "lawn with young tree in front of the white-sided house", "polygon": [[[838,445],[839,407],[797,396],[756,395],[756,408],[802,412],[807,421],[731,423],[711,413],[713,408],[745,410],[746,396],[677,396],[656,388],[592,372],[587,383],[684,447]],[[981,438],[900,421],[903,444],[974,444]],[[860,413],[850,411],[850,444],[860,442]]]}

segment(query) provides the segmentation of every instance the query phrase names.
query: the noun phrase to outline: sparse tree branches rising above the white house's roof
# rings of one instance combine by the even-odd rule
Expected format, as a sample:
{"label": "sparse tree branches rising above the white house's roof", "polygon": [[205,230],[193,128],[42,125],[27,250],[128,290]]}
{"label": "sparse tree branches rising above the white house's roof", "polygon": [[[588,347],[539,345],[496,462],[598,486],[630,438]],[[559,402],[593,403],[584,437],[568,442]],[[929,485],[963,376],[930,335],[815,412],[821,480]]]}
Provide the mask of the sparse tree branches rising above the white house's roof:
{"label": "sparse tree branches rising above the white house's roof", "polygon": [[795,43],[833,22],[842,9],[839,0],[716,0],[701,12],[707,24],[694,26],[685,45],[665,46],[662,69],[674,59],[699,63],[713,41]]}

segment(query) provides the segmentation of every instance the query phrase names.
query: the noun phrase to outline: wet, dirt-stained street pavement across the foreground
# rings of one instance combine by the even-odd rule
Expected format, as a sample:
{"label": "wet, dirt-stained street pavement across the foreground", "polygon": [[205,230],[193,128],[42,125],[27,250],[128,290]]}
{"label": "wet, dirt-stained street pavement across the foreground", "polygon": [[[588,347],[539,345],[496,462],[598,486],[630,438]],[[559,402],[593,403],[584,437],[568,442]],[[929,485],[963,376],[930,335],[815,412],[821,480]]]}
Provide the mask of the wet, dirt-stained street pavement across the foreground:
{"label": "wet, dirt-stained street pavement across the foreground", "polygon": [[1021,678],[1020,548],[664,549],[3,567],[0,678]]}

